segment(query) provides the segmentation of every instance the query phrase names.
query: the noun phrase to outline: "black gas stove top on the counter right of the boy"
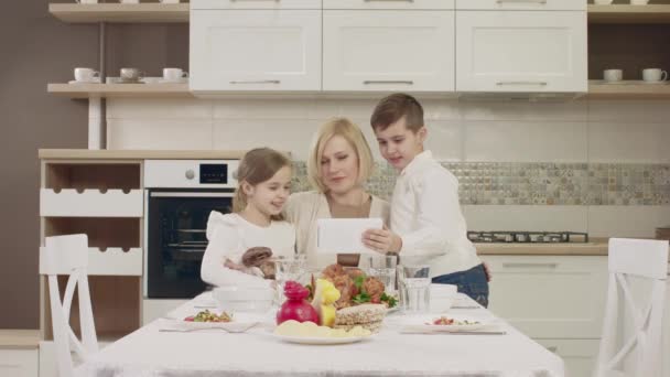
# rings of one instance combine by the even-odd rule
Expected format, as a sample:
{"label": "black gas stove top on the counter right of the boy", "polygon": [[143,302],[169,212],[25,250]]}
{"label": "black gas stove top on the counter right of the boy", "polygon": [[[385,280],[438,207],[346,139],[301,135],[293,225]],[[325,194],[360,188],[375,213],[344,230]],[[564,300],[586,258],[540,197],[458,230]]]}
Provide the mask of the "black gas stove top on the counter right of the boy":
{"label": "black gas stove top on the counter right of the boy", "polygon": [[588,243],[588,234],[579,231],[475,231],[467,233],[473,243],[560,244]]}

